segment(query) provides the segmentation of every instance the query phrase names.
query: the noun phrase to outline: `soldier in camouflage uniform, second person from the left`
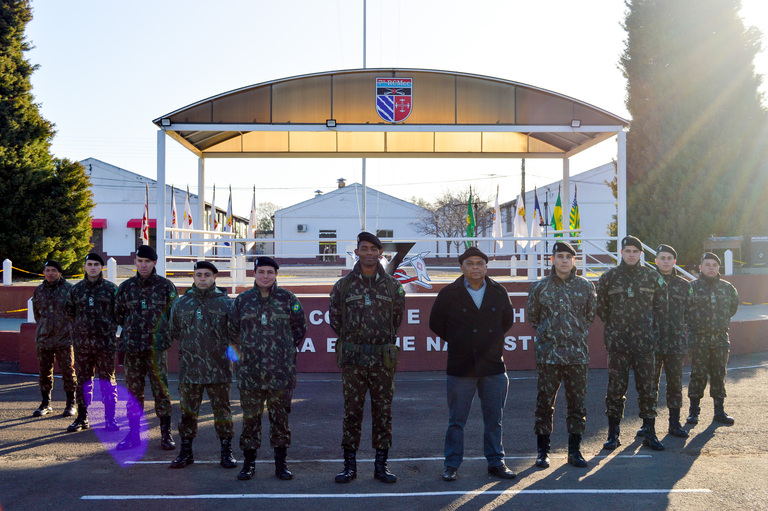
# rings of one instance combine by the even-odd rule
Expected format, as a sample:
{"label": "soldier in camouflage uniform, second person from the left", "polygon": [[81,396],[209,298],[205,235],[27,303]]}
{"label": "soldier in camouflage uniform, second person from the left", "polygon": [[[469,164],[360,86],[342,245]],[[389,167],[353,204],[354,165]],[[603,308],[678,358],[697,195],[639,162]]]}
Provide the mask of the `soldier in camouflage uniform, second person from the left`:
{"label": "soldier in camouflage uniform, second person from the left", "polygon": [[102,276],[104,260],[98,254],[85,256],[85,277],[72,287],[64,307],[72,321],[77,370],[77,418],[67,431],[88,429],[88,406],[93,399],[93,376],[98,375],[104,403],[104,429],[119,431],[115,422],[117,384],[115,382],[115,294],[117,286]]}

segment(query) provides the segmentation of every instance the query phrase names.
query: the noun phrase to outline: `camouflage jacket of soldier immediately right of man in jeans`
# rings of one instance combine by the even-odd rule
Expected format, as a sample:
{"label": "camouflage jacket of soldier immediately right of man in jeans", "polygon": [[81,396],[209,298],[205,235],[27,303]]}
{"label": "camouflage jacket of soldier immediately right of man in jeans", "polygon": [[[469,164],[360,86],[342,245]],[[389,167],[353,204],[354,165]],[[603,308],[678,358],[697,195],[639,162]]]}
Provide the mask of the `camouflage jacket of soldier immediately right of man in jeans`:
{"label": "camouflage jacket of soldier immediately right of man in jeans", "polygon": [[528,319],[536,329],[537,364],[588,364],[589,326],[595,320],[595,286],[576,275],[565,279],[554,269],[528,293]]}

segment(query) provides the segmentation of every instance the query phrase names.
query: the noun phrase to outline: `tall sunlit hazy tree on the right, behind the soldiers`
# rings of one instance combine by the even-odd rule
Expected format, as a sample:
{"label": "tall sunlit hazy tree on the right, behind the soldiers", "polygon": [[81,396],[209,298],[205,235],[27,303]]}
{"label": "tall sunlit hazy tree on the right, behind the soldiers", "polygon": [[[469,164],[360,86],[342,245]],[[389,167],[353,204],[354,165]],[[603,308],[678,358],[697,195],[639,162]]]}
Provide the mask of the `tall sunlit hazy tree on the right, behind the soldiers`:
{"label": "tall sunlit hazy tree on the right, behind the soldiers", "polygon": [[628,232],[695,261],[709,235],[768,233],[760,32],[739,0],[628,0]]}

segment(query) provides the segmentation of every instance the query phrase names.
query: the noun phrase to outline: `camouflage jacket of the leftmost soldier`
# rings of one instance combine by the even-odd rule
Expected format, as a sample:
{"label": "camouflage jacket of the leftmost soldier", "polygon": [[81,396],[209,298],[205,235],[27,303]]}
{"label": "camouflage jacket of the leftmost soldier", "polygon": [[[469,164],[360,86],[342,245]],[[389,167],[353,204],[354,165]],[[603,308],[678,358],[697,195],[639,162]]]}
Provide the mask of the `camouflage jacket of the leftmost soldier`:
{"label": "camouflage jacket of the leftmost soldier", "polygon": [[32,309],[37,322],[35,344],[38,348],[54,349],[72,346],[69,318],[64,312],[72,284],[59,278],[53,284],[44,281],[32,295]]}

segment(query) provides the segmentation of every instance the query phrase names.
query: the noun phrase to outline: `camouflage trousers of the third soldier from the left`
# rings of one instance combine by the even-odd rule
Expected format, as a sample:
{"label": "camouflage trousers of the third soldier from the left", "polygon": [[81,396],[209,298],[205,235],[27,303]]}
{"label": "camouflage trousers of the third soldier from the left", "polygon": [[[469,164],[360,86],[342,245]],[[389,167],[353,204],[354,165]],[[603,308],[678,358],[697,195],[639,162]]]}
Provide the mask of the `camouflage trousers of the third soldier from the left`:
{"label": "camouflage trousers of the third soldier from the left", "polygon": [[144,413],[144,383],[149,377],[149,386],[155,398],[155,413],[158,417],[171,416],[171,395],[168,392],[168,355],[163,351],[140,351],[126,353],[123,361],[125,386],[136,399],[128,401],[128,417]]}

